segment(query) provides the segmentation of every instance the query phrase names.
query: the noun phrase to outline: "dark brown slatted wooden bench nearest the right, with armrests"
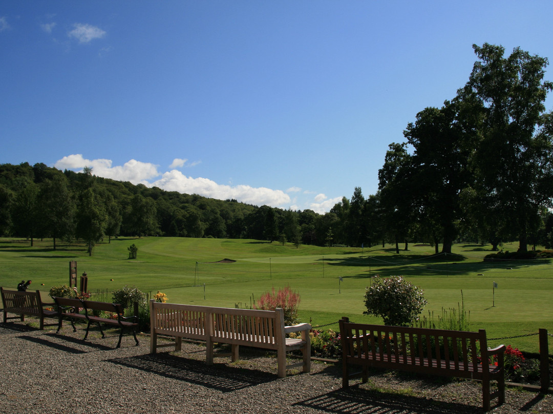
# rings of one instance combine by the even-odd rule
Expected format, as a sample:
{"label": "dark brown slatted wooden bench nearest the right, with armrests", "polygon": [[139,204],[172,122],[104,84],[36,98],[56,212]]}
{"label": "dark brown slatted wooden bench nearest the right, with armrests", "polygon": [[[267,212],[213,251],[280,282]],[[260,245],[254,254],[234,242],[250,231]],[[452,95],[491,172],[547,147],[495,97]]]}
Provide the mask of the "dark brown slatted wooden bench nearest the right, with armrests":
{"label": "dark brown slatted wooden bench nearest the right, with armrests", "polygon": [[[342,386],[349,386],[352,376],[362,374],[367,382],[369,367],[418,372],[482,381],[482,406],[489,411],[491,398],[498,405],[505,401],[505,345],[488,349],[486,330],[457,330],[390,327],[351,323],[340,320],[342,343]],[[497,366],[489,365],[495,355]],[[361,365],[362,372],[349,373],[349,365]],[[490,393],[490,381],[498,390]]]}

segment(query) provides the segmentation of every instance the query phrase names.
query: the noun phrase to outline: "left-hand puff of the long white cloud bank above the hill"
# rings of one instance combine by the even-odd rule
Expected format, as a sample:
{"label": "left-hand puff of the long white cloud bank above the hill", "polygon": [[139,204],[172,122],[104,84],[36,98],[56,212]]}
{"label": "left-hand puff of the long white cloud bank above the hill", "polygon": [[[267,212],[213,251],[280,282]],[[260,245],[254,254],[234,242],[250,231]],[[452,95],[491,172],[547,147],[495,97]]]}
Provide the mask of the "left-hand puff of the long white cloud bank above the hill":
{"label": "left-hand puff of the long white cloud bank above the hill", "polygon": [[131,159],[124,165],[112,167],[111,159],[85,159],[82,154],[72,154],[60,159],[54,164],[58,169],[82,170],[84,167],[92,168],[92,174],[98,177],[111,178],[120,181],[129,181],[133,184],[142,183],[148,185],[148,180],[158,177],[160,173],[156,165]]}

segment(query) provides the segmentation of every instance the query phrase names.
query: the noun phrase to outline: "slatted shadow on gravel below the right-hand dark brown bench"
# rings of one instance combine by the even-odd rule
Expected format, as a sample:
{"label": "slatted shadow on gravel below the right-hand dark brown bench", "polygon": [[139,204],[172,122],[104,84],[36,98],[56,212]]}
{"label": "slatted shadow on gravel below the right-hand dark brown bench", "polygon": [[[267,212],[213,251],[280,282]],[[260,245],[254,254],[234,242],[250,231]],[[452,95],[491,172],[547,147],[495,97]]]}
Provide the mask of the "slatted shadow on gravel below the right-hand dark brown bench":
{"label": "slatted shadow on gravel below the right-hand dark brown bench", "polygon": [[327,413],[483,413],[480,407],[441,402],[415,396],[364,390],[359,386],[327,392],[293,404]]}

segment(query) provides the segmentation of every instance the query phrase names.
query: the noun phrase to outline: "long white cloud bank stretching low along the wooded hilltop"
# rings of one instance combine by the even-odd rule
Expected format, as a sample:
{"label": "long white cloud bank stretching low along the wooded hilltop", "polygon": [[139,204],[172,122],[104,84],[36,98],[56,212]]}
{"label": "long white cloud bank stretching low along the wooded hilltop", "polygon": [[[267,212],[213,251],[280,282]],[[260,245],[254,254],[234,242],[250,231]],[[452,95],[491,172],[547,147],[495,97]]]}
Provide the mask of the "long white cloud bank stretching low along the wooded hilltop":
{"label": "long white cloud bank stretching low along the wooded hilltop", "polygon": [[[180,160],[182,161],[182,160]],[[175,163],[175,161],[173,161]],[[178,162],[179,163],[179,162]],[[254,205],[270,205],[280,207],[290,203],[290,196],[282,190],[272,190],[265,187],[250,187],[249,185],[223,185],[207,178],[186,177],[180,171],[173,169],[163,173],[161,178],[156,165],[143,163],[131,159],[124,165],[112,166],[110,159],[85,159],[82,154],[72,154],[60,159],[54,164],[58,169],[82,170],[84,167],[92,168],[92,173],[98,177],[114,180],[129,181],[133,184],[144,184],[148,187],[159,187],[167,191],[179,193],[199,194],[208,198],[220,200],[236,199],[243,203]]]}

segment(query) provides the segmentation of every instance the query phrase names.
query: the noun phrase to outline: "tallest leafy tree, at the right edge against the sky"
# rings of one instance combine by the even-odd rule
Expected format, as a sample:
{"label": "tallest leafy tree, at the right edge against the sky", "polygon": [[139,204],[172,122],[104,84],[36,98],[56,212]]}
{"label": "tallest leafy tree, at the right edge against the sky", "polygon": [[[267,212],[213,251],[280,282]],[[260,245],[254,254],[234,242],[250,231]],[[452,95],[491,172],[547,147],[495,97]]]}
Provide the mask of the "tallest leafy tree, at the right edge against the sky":
{"label": "tallest leafy tree, at the right edge against the sky", "polygon": [[546,58],[515,48],[507,58],[502,46],[473,45],[474,64],[461,99],[481,105],[480,140],[472,158],[474,190],[482,213],[502,214],[505,227],[526,251],[528,234],[553,197],[552,115],[545,113]]}

